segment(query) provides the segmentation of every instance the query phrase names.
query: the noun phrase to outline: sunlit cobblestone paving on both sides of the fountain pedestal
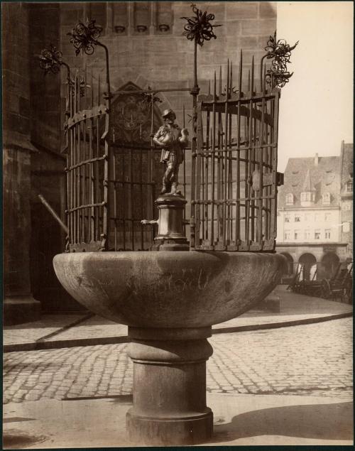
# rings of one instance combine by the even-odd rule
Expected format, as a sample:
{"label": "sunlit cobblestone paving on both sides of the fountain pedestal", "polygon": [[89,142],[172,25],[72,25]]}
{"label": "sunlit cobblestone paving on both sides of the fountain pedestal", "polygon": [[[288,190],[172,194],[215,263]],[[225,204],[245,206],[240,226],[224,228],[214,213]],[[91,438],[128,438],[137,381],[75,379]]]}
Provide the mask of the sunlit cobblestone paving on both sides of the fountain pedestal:
{"label": "sunlit cobblestone paving on both sides of the fountain pedestal", "polygon": [[[214,335],[207,391],[349,397],[352,320]],[[128,344],[4,354],[4,403],[128,395]]]}

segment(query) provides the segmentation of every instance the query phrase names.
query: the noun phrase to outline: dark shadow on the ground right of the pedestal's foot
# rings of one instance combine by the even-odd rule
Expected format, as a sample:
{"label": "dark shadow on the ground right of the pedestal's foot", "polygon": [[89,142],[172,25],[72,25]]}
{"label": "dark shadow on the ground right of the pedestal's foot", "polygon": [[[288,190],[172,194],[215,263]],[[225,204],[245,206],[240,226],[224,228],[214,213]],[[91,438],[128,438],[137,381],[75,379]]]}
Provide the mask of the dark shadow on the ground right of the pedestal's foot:
{"label": "dark shadow on the ground right of the pedestal's foot", "polygon": [[323,440],[353,440],[351,402],[310,404],[241,413],[230,423],[214,425],[214,442],[259,435],[281,435]]}

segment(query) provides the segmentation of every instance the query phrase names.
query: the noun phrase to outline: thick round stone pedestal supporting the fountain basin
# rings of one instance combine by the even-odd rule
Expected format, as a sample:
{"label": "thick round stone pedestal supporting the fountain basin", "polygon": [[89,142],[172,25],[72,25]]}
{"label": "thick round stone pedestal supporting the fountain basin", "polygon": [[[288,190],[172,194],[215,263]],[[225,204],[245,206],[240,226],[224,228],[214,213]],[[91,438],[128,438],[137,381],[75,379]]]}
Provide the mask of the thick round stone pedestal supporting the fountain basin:
{"label": "thick round stone pedestal supporting the fountain basin", "polygon": [[195,445],[212,437],[206,406],[207,342],[211,327],[129,327],[133,407],[126,415],[129,440],[143,445]]}

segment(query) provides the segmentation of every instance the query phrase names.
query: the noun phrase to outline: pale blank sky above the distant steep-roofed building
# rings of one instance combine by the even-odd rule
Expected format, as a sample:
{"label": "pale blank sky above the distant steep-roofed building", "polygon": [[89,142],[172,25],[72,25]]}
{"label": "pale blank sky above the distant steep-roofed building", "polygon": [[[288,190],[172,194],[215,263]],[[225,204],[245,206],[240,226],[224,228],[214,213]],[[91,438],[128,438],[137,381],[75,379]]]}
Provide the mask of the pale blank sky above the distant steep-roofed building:
{"label": "pale blank sky above the distant steep-roofed building", "polygon": [[281,89],[278,170],[288,158],[340,155],[353,141],[353,3],[280,1],[278,38],[293,45]]}

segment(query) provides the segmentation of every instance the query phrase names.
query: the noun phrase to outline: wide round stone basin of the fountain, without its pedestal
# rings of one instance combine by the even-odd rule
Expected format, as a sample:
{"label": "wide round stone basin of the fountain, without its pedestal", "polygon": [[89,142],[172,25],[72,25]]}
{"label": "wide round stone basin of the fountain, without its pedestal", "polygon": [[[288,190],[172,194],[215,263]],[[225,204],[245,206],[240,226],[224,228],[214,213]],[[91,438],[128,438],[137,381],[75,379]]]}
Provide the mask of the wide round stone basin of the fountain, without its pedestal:
{"label": "wide round stone basin of the fountain, without its pedestal", "polygon": [[55,273],[97,315],[134,327],[205,327],[251,309],[275,288],[279,254],[207,251],[81,252]]}

